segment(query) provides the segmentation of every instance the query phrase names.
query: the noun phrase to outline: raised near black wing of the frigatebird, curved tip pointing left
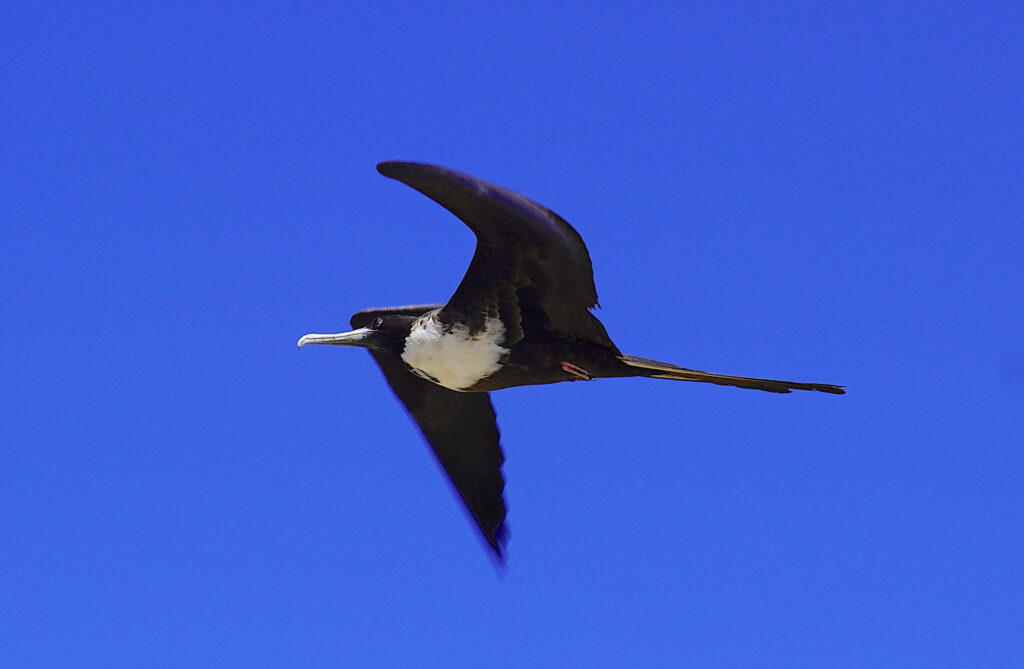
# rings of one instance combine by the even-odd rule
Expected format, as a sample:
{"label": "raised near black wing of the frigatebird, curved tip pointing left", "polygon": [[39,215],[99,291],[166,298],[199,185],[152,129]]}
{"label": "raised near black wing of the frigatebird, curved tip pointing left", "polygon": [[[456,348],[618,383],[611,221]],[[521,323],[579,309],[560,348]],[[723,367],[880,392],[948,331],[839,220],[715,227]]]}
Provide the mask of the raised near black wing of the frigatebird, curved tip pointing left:
{"label": "raised near black wing of the frigatebird, curved tip pointing left", "polygon": [[427,196],[476,235],[476,252],[441,311],[447,323],[483,328],[497,317],[505,345],[544,331],[618,349],[589,309],[597,305],[594,270],[580,234],[558,214],[517,193],[422,163],[381,163],[378,171]]}

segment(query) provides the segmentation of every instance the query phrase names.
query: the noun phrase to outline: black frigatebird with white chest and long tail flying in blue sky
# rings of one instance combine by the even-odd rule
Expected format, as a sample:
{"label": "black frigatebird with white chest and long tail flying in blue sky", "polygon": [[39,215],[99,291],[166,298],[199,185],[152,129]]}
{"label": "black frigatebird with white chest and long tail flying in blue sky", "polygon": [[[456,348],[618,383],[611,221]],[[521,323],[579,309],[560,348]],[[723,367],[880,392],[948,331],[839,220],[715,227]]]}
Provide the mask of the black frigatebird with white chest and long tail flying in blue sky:
{"label": "black frigatebird with white chest and long tail flying in blue sky", "polygon": [[490,390],[644,376],[768,392],[846,392],[827,383],[712,374],[627,356],[591,312],[597,290],[590,254],[558,214],[508,189],[435,165],[385,162],[377,169],[473,231],[476,251],[469,269],[446,304],[364,309],[352,316],[351,332],[308,334],[298,345],[370,349],[499,562],[508,533],[504,456]]}

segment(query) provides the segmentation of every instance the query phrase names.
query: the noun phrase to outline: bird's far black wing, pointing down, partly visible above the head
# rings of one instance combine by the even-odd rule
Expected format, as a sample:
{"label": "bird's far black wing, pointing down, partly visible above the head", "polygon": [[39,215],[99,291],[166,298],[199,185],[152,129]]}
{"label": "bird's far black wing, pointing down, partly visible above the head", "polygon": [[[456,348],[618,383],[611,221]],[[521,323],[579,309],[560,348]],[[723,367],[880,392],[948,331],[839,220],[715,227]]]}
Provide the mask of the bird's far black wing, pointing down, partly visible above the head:
{"label": "bird's far black wing, pointing down, partly visible above the head", "polygon": [[[421,316],[440,304],[367,309],[352,316],[352,327],[362,328],[378,316]],[[447,472],[466,508],[500,561],[508,541],[502,462],[495,410],[486,392],[457,392],[421,379],[390,356],[374,352],[391,389],[406,405],[437,460]]]}

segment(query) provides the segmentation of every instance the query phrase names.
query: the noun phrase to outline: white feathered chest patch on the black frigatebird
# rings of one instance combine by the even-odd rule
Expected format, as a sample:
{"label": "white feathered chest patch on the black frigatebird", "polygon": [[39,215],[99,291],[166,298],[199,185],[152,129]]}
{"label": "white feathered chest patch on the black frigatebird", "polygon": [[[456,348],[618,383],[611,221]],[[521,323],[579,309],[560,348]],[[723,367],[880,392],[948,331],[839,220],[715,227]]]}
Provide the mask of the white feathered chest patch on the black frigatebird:
{"label": "white feathered chest patch on the black frigatebird", "polygon": [[465,390],[501,369],[500,361],[509,352],[501,345],[504,340],[505,325],[495,318],[470,335],[464,325],[444,332],[436,320],[423,317],[413,324],[401,360],[445,388]]}

